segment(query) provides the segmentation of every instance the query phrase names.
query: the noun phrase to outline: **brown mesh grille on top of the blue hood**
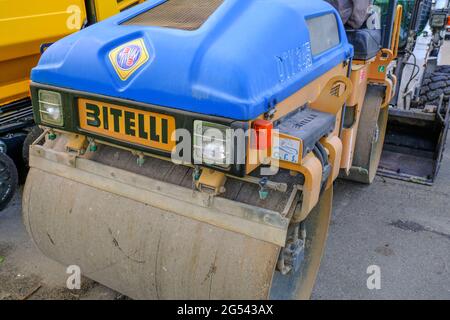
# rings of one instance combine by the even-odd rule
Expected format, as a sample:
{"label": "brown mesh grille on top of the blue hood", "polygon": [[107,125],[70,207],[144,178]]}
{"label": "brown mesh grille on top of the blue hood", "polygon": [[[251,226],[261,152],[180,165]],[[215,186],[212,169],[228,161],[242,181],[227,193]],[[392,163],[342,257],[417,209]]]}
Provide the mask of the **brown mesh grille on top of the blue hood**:
{"label": "brown mesh grille on top of the blue hood", "polygon": [[169,0],[123,24],[196,30],[222,3],[223,0]]}

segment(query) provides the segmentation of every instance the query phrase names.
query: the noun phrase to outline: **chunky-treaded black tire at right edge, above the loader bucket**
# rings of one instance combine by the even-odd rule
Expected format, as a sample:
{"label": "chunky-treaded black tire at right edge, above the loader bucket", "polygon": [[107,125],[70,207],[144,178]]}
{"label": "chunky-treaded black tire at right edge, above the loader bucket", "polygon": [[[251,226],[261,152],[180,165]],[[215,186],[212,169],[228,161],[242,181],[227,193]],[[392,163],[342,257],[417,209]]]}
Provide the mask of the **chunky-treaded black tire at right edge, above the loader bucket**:
{"label": "chunky-treaded black tire at right edge, above the loader bucket", "polygon": [[423,106],[438,106],[442,94],[450,96],[450,66],[438,66],[434,72],[425,75],[420,102]]}

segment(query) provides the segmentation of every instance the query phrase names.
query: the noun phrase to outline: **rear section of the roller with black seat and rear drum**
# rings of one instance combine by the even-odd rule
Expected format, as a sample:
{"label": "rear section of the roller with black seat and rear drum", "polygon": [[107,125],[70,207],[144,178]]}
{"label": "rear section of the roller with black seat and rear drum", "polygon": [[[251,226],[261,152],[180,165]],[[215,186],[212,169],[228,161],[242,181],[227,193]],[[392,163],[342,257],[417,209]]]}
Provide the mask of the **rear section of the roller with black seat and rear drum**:
{"label": "rear section of the roller with black seat and rear drum", "polygon": [[344,106],[340,178],[371,184],[378,173],[396,88],[394,67],[403,19],[397,0],[327,0],[340,13],[354,47],[354,92]]}

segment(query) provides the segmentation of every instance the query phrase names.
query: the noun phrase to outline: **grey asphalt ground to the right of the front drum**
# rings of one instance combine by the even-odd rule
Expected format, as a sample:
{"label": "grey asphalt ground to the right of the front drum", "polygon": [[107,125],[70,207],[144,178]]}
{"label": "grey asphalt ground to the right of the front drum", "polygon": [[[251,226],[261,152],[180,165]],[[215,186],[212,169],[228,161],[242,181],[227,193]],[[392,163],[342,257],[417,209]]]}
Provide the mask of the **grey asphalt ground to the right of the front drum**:
{"label": "grey asphalt ground to the right of the front drum", "polygon": [[[338,181],[314,299],[450,299],[450,144],[433,187]],[[367,268],[381,289],[367,288]]]}

